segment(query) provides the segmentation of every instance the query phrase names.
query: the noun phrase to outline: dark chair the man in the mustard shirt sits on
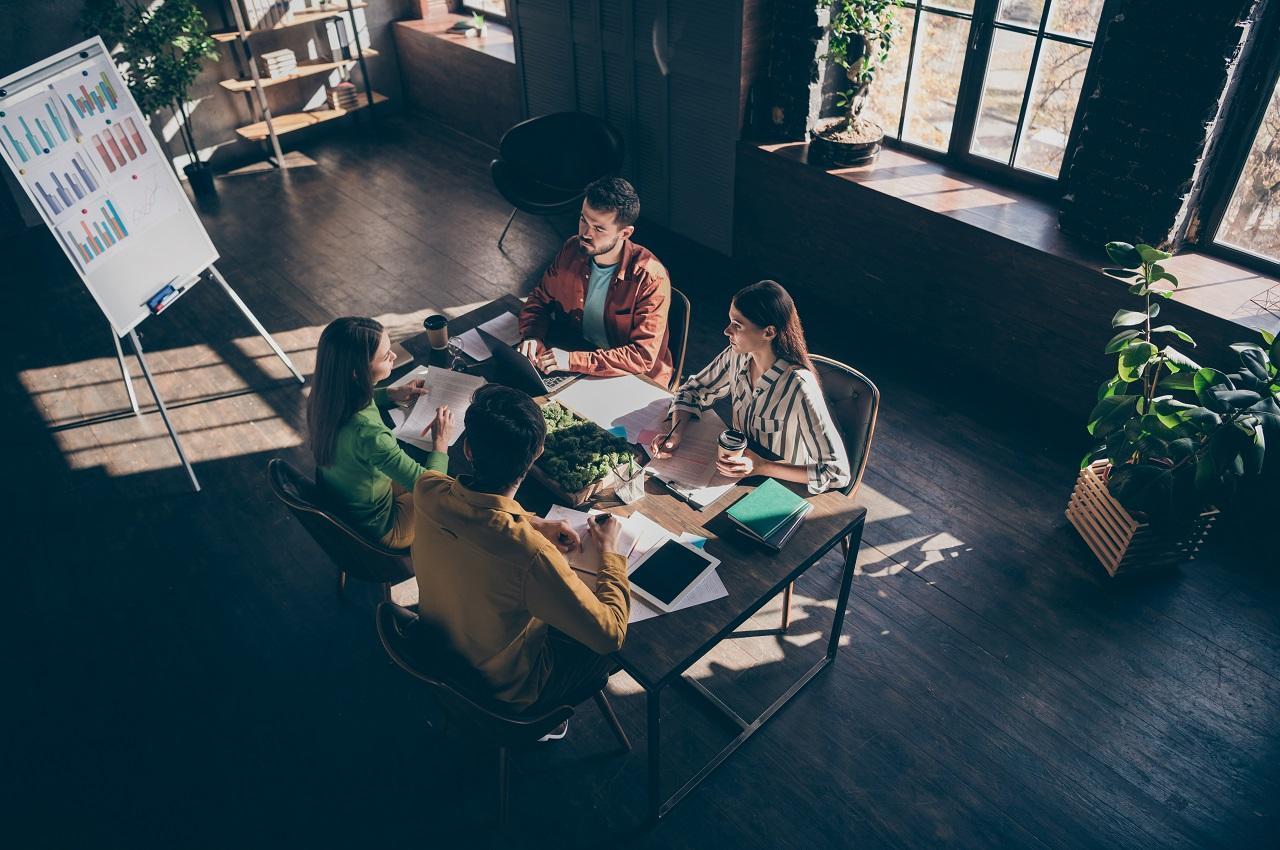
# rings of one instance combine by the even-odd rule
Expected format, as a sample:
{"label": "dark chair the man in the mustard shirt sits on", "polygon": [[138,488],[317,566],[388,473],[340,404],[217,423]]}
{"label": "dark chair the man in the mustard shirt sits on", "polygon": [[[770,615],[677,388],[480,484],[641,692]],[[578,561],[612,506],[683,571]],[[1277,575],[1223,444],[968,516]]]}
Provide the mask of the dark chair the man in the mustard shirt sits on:
{"label": "dark chair the man in the mustard shirt sits on", "polygon": [[[393,602],[378,605],[376,620],[383,649],[401,670],[428,686],[449,723],[471,741],[497,748],[498,821],[506,823],[511,750],[538,742],[572,717],[575,707],[558,705],[536,717],[512,712],[492,699],[477,696],[484,687],[479,675],[431,623]],[[603,690],[595,694],[595,704],[622,750],[630,751],[631,741]]]}

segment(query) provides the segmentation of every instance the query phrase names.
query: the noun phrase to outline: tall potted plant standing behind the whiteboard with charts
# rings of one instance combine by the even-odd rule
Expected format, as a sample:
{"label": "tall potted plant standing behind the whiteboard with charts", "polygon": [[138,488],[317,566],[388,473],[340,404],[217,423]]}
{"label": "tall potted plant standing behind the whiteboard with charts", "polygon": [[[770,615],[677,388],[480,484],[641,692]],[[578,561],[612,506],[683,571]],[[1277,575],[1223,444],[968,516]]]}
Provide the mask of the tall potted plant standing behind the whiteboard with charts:
{"label": "tall potted plant standing behind the whiteboard with charts", "polygon": [[200,157],[187,109],[187,90],[204,60],[216,55],[196,0],[88,0],[81,26],[86,35],[101,36],[115,50],[113,59],[145,115],[163,108],[173,113],[187,150],[188,164],[182,170],[196,195],[214,195],[214,174]]}

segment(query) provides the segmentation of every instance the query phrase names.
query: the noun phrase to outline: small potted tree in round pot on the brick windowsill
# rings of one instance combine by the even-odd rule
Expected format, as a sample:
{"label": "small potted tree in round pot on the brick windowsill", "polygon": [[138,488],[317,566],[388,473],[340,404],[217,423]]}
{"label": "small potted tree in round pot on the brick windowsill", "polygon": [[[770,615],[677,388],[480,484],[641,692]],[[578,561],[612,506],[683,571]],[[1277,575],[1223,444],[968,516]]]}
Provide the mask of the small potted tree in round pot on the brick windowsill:
{"label": "small potted tree in round pot on the brick windowsill", "polygon": [[896,10],[902,0],[819,0],[819,9],[831,9],[827,24],[827,52],[845,76],[847,88],[836,96],[845,110],[836,118],[819,120],[810,131],[809,152],[828,165],[865,165],[879,156],[884,129],[863,118],[876,72],[888,59],[899,23]]}

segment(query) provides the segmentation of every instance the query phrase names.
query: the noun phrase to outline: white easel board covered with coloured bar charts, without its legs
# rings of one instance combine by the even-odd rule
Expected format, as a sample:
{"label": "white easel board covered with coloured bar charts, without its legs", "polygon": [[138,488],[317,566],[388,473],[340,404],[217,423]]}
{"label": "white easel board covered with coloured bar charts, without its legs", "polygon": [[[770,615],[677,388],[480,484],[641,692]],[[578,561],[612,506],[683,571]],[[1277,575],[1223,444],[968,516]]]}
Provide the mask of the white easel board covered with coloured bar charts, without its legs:
{"label": "white easel board covered with coloured bar charts, without its legs", "polygon": [[100,37],[0,79],[0,155],[120,337],[218,251]]}

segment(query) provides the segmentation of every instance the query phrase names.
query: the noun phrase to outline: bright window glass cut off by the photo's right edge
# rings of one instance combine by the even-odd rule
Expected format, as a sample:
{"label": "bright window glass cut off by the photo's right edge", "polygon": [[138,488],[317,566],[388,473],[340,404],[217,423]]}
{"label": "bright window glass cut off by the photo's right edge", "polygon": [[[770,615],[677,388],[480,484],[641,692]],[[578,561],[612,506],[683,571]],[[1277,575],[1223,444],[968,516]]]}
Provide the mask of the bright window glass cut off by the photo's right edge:
{"label": "bright window glass cut off by the photo's right edge", "polygon": [[1215,239],[1280,262],[1280,82]]}

